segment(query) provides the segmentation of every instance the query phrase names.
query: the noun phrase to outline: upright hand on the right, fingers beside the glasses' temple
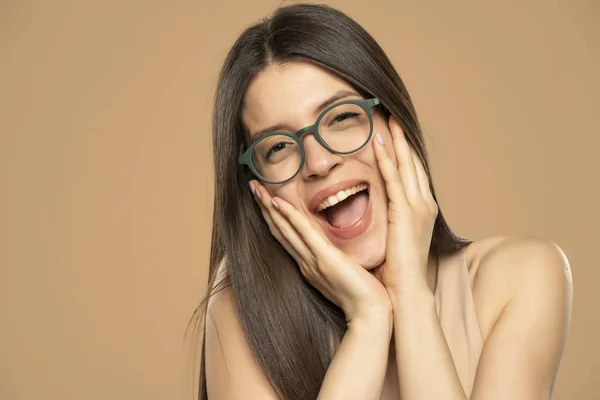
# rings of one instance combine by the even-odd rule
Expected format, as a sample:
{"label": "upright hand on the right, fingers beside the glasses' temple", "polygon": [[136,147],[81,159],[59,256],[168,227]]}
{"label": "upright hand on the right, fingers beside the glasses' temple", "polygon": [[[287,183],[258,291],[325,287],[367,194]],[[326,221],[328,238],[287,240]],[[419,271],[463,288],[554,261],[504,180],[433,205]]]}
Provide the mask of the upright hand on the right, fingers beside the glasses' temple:
{"label": "upright hand on the right, fingers beside the glasses' temple", "polygon": [[419,156],[392,116],[389,127],[397,163],[380,134],[373,140],[389,199],[386,261],[374,274],[388,293],[397,294],[427,288],[427,261],[438,206]]}

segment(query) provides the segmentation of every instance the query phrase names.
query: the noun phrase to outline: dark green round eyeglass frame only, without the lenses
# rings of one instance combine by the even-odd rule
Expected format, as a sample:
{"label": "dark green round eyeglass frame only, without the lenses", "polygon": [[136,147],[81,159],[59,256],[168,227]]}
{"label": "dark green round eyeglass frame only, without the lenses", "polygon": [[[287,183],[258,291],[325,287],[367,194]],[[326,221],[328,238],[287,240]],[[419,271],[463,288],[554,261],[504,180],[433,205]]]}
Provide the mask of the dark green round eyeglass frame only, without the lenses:
{"label": "dark green round eyeglass frame only, without the lenses", "polygon": [[[365,113],[367,114],[367,117],[369,118],[369,136],[367,137],[367,139],[365,140],[365,143],[363,143],[360,147],[352,150],[352,151],[346,151],[346,152],[341,152],[341,151],[336,151],[334,149],[332,149],[327,143],[325,143],[325,141],[323,140],[323,138],[321,137],[321,135],[319,134],[318,131],[318,127],[319,127],[319,123],[321,122],[321,119],[333,108],[341,106],[343,104],[356,104],[357,106],[359,106],[360,108],[362,108]],[[272,133],[267,133],[265,135],[262,135],[260,138],[258,138],[257,140],[255,140],[247,149],[246,151],[244,151],[244,153],[242,155],[240,155],[240,157],[238,158],[238,163],[239,164],[243,164],[243,165],[247,165],[248,168],[250,168],[250,171],[252,171],[252,173],[262,182],[264,183],[268,183],[268,184],[273,184],[273,185],[277,185],[277,184],[282,184],[282,183],[286,183],[291,181],[292,179],[294,179],[296,177],[296,175],[298,175],[298,173],[300,172],[300,170],[302,170],[302,167],[304,166],[304,155],[305,155],[305,149],[304,149],[304,144],[301,140],[302,136],[309,133],[309,132],[313,132],[315,134],[315,139],[317,139],[317,142],[319,142],[319,144],[321,146],[323,146],[324,148],[326,148],[328,151],[334,153],[334,154],[352,154],[357,152],[358,150],[362,149],[363,147],[365,147],[367,145],[367,143],[369,143],[369,141],[371,140],[371,136],[373,136],[373,117],[371,116],[371,108],[373,108],[374,106],[380,104],[379,99],[377,97],[374,97],[372,99],[356,99],[356,100],[344,100],[341,101],[339,103],[335,103],[329,107],[327,107],[317,118],[317,121],[310,126],[307,126],[305,128],[300,129],[299,131],[297,131],[296,133],[287,133],[287,132],[272,132]],[[252,163],[252,152],[254,150],[254,147],[261,141],[264,140],[267,137],[270,136],[275,136],[275,135],[284,135],[289,137],[290,139],[292,139],[293,141],[295,141],[296,143],[298,143],[298,146],[300,148],[300,165],[298,167],[298,170],[288,179],[284,180],[284,181],[269,181],[268,179],[266,179],[265,177],[263,177],[257,170],[256,168],[254,168],[254,165]]]}

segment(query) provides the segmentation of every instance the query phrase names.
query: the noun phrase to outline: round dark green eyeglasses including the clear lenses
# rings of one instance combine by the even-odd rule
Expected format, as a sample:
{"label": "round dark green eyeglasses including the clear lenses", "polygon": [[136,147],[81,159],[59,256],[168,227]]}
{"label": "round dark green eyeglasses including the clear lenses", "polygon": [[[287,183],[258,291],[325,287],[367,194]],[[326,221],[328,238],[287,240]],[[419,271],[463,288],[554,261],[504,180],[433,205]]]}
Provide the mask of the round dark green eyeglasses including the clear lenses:
{"label": "round dark green eyeglasses including the clear lenses", "polygon": [[326,108],[314,125],[296,133],[273,132],[261,136],[239,157],[256,177],[269,184],[293,179],[304,165],[301,140],[313,132],[317,142],[335,154],[351,154],[363,148],[373,135],[371,108],[379,99],[345,100]]}

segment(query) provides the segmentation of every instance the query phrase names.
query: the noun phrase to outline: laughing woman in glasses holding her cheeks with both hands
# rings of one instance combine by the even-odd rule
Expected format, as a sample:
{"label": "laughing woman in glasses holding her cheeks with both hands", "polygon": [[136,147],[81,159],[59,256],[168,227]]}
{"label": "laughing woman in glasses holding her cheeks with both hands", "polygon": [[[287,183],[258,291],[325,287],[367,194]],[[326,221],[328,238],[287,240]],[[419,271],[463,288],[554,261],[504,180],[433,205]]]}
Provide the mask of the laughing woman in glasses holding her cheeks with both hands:
{"label": "laughing woman in glasses holding her cheeks with both hands", "polygon": [[571,310],[555,244],[470,241],[417,116],[358,24],[293,5],[231,49],[200,398],[549,398]]}

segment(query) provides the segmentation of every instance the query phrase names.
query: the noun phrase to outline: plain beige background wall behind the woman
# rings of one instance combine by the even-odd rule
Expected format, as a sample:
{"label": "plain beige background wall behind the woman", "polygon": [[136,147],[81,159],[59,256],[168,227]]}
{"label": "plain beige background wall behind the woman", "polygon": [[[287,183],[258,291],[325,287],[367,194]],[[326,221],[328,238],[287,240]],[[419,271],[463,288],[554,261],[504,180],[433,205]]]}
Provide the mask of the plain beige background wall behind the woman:
{"label": "plain beige background wall behind the woman", "polygon": [[[237,35],[278,4],[0,0],[1,399],[192,398],[212,93]],[[405,80],[451,226],[565,250],[555,398],[600,398],[600,3],[329,4]]]}

